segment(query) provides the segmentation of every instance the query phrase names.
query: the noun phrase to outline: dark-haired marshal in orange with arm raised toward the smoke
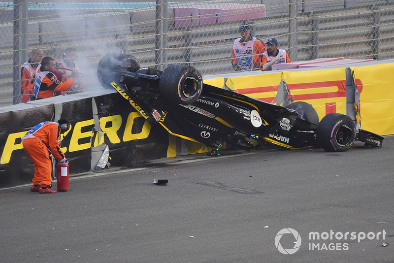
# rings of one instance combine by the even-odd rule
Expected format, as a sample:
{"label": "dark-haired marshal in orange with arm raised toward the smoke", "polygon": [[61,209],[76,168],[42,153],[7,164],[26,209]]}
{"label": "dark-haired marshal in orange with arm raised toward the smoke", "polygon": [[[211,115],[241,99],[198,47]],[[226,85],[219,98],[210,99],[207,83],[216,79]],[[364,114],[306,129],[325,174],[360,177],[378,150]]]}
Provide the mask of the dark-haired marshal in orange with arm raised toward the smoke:
{"label": "dark-haired marshal in orange with arm raised toward the smoke", "polygon": [[78,75],[78,69],[73,69],[70,78],[65,82],[59,80],[54,74],[56,62],[51,57],[44,57],[34,74],[35,99],[46,99],[54,96],[55,92],[63,92],[74,85],[74,78]]}

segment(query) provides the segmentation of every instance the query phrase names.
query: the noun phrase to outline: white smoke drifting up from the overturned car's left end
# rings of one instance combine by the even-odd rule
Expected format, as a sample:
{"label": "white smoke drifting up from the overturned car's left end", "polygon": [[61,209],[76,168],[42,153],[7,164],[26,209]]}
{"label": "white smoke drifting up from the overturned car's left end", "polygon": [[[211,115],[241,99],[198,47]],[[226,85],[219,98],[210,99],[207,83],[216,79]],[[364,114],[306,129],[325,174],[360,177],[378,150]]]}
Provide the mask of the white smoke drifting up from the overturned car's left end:
{"label": "white smoke drifting up from the overturned car's left end", "polygon": [[[138,7],[141,3],[129,3],[129,7],[137,8],[127,9],[126,5],[121,4],[127,3],[75,3],[72,1],[62,4],[53,3],[48,7],[55,8],[56,17],[49,15],[49,13],[53,14],[53,11],[48,11],[48,15],[43,17],[50,17],[50,19],[44,19],[40,23],[43,41],[53,45],[53,56],[59,61],[63,59],[62,55],[67,47],[76,50],[77,63],[81,72],[80,79],[85,90],[102,88],[97,77],[97,67],[105,54],[130,50],[131,16],[134,20],[136,17],[151,19],[137,23],[136,26],[133,25],[139,30],[146,26],[145,23],[150,27],[154,26],[154,6]],[[154,3],[143,5],[152,4]],[[139,55],[143,56],[143,54]],[[134,56],[138,57],[138,54]]]}

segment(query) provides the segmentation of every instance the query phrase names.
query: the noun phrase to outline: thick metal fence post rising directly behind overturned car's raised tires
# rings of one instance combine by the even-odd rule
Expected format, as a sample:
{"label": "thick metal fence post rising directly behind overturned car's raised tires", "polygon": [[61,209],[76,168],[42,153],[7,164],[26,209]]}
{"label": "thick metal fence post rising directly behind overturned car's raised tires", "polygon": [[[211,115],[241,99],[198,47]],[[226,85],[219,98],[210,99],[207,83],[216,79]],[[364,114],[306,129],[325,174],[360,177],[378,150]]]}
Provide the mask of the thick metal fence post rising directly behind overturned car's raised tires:
{"label": "thick metal fence post rising directly behind overturned car's raised tires", "polygon": [[167,61],[167,0],[156,0],[155,64],[164,70]]}

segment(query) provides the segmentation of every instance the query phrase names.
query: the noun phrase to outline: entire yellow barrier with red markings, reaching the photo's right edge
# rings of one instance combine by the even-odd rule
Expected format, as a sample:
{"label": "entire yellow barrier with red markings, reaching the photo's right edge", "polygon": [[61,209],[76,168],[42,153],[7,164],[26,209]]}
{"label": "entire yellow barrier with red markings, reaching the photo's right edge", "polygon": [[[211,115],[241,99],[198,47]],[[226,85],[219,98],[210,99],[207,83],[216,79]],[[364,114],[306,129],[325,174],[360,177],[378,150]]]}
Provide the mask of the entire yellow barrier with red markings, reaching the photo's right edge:
{"label": "entire yellow barrier with red markings, reaching the photo's right edge", "polygon": [[[361,128],[381,135],[394,134],[394,63],[350,67],[360,92]],[[322,119],[328,113],[346,114],[346,68],[229,77],[230,90],[272,103],[283,81],[294,101],[310,103]],[[223,87],[223,78],[204,83]]]}

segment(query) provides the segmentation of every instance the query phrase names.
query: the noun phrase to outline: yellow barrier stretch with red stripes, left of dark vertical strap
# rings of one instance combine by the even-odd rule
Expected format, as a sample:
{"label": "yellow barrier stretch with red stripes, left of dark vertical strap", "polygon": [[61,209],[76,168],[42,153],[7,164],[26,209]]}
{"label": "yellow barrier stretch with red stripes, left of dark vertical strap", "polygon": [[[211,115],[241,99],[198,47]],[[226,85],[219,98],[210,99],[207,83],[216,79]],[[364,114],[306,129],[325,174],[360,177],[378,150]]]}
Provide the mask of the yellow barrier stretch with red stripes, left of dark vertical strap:
{"label": "yellow barrier stretch with red stripes, left of dark vertical strap", "polygon": [[[230,77],[226,86],[240,94],[272,103],[281,81],[292,92],[294,101],[310,103],[322,119],[328,113],[346,114],[345,68],[297,72],[273,72],[254,76]],[[215,79],[204,81],[215,87]]]}

